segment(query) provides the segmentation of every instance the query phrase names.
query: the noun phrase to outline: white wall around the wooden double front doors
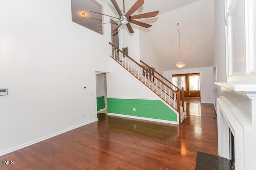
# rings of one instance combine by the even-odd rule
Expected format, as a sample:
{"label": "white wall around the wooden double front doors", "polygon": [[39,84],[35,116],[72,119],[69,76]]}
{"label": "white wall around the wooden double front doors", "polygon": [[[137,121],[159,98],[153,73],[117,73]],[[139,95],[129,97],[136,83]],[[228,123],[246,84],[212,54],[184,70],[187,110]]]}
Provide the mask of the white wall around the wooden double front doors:
{"label": "white wall around the wooden double front doors", "polygon": [[172,74],[200,73],[201,102],[214,102],[213,67],[190,68],[164,71],[164,77],[172,82]]}

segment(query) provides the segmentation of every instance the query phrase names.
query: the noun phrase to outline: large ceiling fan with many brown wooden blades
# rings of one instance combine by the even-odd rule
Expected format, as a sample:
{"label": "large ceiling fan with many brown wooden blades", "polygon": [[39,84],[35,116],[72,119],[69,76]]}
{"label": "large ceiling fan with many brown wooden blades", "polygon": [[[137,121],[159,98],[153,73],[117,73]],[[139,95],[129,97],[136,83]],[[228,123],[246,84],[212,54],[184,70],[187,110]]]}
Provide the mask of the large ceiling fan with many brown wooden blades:
{"label": "large ceiling fan with many brown wooden blades", "polygon": [[[116,17],[113,17],[113,16],[110,16],[110,17],[116,18],[120,21],[120,24],[113,31],[118,30],[118,28],[121,25],[126,25],[126,27],[128,28],[128,31],[130,33],[134,33],[130,23],[133,23],[133,24],[145,27],[145,28],[149,28],[152,25],[144,23],[144,22],[136,21],[135,19],[155,17],[159,12],[159,11],[154,11],[154,12],[148,12],[148,13],[144,13],[144,14],[138,14],[138,15],[131,16],[136,10],[138,10],[138,8],[140,8],[140,6],[142,6],[144,4],[144,0],[137,0],[135,2],[135,4],[132,6],[132,8],[130,8],[130,10],[128,10],[128,12],[126,12],[126,13],[125,13],[125,10],[122,13],[122,10],[120,10],[116,0],[111,0],[111,2],[114,5],[114,8],[116,9],[116,11],[118,13],[119,18],[116,18]],[[123,2],[124,2],[124,0],[123,0]],[[90,11],[90,12],[93,12],[93,11]],[[101,14],[101,13],[98,13],[98,12],[94,12],[94,13]],[[101,15],[109,16],[109,15],[106,15],[106,14],[101,14]],[[114,21],[114,22],[116,22],[116,21]],[[112,23],[112,22],[108,22],[108,23]]]}

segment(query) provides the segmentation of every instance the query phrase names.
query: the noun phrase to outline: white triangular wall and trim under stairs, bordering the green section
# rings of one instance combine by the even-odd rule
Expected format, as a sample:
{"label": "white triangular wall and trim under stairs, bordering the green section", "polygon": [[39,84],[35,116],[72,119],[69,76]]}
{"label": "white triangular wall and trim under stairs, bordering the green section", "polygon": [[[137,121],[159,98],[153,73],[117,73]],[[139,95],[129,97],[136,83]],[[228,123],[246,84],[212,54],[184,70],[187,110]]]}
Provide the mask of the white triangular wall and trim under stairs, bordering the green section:
{"label": "white triangular wall and trim under stairs, bordering the green section", "polygon": [[[156,95],[150,88],[142,83],[138,78],[122,67],[118,62],[110,59],[110,73],[107,73],[107,93],[109,99],[131,99],[131,100],[158,100],[161,101],[172,113],[176,115],[175,121],[166,121],[161,119],[150,119],[140,116],[129,116],[127,114],[118,114],[123,117],[132,117],[137,119],[146,119],[151,121],[160,121],[165,123],[179,124],[179,113],[162,98]],[[111,110],[108,114],[112,114]],[[112,114],[117,115],[117,114]],[[181,119],[182,120],[182,119]]]}

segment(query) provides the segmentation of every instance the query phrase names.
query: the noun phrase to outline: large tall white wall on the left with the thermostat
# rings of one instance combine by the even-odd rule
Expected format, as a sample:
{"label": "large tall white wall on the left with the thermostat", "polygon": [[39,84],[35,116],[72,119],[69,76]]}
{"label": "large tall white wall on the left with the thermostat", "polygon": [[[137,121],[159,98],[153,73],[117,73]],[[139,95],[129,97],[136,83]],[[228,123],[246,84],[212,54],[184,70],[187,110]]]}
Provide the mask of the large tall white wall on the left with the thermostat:
{"label": "large tall white wall on the left with the thermostat", "polygon": [[70,0],[2,1],[0,21],[0,88],[9,92],[0,155],[97,120],[95,71],[109,71],[110,28],[100,35],[72,22]]}

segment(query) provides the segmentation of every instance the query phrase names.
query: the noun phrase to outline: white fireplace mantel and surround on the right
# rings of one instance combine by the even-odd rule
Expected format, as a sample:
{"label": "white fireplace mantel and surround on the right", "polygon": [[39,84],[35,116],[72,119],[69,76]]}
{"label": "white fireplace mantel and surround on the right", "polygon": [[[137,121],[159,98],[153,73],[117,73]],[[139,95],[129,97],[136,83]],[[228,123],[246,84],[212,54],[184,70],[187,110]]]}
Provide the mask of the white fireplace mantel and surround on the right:
{"label": "white fireplace mantel and surround on the right", "polygon": [[254,169],[256,147],[256,84],[216,82],[218,91],[218,147],[219,155],[229,159],[229,129],[235,140],[236,169]]}

